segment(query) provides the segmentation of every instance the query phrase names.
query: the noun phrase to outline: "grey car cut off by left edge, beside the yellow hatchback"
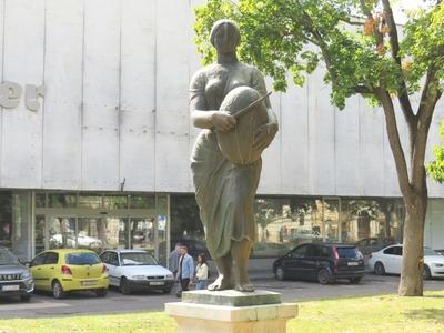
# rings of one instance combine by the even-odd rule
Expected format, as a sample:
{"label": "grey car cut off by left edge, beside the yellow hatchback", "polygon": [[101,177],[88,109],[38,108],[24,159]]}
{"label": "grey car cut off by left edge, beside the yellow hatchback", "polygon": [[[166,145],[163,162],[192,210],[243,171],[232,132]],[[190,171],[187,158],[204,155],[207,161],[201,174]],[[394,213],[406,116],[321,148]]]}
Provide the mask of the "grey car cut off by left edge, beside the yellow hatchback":
{"label": "grey car cut off by left edge, beside the yellow hatchback", "polygon": [[8,249],[0,248],[0,296],[20,296],[29,301],[34,281],[29,269]]}

